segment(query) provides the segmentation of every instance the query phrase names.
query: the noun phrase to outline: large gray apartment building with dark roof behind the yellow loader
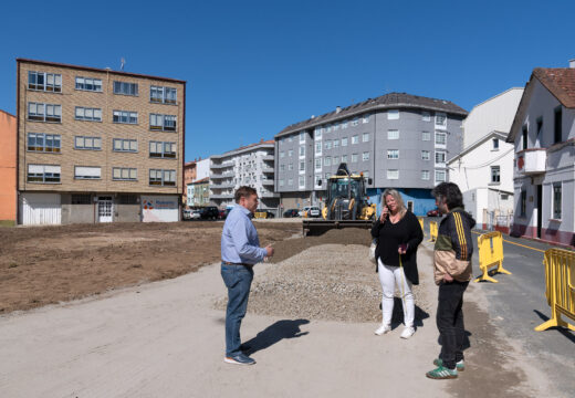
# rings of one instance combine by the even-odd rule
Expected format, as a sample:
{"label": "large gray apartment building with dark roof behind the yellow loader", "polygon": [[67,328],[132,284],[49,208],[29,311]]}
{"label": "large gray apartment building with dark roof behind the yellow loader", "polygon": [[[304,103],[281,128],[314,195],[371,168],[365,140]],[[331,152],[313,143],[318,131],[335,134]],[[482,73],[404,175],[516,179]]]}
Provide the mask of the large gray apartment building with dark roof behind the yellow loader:
{"label": "large gray apartment building with dark roof behind the yellow loader", "polygon": [[406,206],[425,214],[435,208],[431,189],[448,178],[447,159],[461,150],[467,114],[449,101],[390,93],[288,126],[274,137],[281,206],[322,205],[325,184],[318,181],[346,163],[372,178],[372,202],[396,188]]}

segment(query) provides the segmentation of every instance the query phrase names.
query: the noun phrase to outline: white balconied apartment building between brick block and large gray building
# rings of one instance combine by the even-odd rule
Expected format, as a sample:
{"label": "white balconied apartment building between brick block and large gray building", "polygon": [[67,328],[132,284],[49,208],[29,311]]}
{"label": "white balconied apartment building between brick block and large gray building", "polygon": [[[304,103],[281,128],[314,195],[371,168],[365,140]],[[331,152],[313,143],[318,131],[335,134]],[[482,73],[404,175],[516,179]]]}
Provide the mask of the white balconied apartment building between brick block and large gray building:
{"label": "white balconied apartment building between brick block and large gray building", "polygon": [[236,189],[250,186],[258,191],[260,209],[278,209],[280,195],[273,189],[274,140],[262,139],[210,159],[210,202],[220,208],[232,207]]}

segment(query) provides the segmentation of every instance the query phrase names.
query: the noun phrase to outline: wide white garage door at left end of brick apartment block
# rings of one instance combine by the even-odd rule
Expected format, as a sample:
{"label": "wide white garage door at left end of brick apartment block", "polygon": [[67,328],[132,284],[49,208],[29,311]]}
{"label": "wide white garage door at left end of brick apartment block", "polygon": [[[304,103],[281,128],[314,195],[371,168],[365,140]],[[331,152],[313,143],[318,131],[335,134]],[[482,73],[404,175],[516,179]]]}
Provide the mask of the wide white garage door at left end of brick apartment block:
{"label": "wide white garage door at left end of brick apartment block", "polygon": [[21,193],[20,214],[24,226],[60,224],[60,193]]}

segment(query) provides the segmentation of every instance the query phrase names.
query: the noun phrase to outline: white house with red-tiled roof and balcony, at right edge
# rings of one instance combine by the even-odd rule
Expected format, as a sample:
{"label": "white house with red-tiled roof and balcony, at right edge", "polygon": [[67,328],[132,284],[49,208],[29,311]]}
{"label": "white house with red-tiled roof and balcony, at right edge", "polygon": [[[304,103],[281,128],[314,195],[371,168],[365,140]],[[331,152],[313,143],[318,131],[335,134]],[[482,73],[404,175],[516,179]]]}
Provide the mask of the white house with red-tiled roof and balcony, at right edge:
{"label": "white house with red-tiled roof and balcony, at right edge", "polygon": [[513,233],[575,245],[575,61],[533,70],[513,121]]}

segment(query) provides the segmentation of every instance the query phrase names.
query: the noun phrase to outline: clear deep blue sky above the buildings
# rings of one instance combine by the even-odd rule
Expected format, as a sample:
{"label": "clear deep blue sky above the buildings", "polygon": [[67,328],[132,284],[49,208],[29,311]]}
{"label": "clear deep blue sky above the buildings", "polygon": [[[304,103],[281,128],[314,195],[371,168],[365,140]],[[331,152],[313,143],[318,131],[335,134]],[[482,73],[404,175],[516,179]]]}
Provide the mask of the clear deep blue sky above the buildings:
{"label": "clear deep blue sky above the buildings", "polygon": [[15,59],[188,82],[186,160],[389,92],[470,111],[533,67],[575,57],[573,1],[10,1],[0,108]]}

